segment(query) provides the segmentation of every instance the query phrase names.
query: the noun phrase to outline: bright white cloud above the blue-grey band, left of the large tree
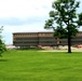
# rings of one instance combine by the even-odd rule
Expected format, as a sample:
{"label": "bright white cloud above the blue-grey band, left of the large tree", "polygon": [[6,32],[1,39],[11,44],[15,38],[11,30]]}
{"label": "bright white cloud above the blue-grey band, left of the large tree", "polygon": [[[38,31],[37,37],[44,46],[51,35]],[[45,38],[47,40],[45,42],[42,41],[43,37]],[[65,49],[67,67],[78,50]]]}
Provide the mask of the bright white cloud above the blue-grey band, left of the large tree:
{"label": "bright white cloud above the blue-grey band, left of the large tree", "polygon": [[[53,0],[0,0],[0,17],[42,16]],[[44,9],[43,6],[47,8]]]}

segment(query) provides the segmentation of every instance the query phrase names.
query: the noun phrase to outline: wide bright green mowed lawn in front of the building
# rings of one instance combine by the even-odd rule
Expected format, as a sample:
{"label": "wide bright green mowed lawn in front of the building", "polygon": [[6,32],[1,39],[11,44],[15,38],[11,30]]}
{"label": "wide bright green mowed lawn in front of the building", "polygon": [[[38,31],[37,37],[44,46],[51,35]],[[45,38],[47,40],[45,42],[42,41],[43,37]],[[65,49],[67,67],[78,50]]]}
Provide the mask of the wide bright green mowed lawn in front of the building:
{"label": "wide bright green mowed lawn in front of the building", "polygon": [[82,53],[8,51],[0,81],[82,81]]}

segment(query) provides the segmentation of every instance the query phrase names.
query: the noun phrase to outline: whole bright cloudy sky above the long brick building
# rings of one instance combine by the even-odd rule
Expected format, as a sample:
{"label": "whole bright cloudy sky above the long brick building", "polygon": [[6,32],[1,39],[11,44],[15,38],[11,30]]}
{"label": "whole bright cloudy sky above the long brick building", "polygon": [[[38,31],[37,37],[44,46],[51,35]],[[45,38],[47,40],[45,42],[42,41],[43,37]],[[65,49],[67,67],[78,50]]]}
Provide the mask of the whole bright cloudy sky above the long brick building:
{"label": "whole bright cloudy sky above the long brick building", "polygon": [[[0,26],[3,26],[2,39],[13,44],[13,32],[39,32],[45,30],[54,0],[0,0]],[[79,12],[82,12],[82,0]],[[82,28],[80,28],[82,30]]]}

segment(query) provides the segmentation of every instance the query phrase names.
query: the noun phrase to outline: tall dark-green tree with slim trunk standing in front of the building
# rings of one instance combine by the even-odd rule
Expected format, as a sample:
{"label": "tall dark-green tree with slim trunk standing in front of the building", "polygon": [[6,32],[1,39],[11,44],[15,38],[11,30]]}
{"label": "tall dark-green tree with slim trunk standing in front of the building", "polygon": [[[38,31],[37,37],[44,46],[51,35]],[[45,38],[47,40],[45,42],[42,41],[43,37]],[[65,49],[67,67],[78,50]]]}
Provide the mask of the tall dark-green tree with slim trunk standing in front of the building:
{"label": "tall dark-green tree with slim trunk standing in front of the building", "polygon": [[71,53],[71,38],[82,26],[82,14],[77,14],[79,4],[76,0],[56,0],[52,3],[54,11],[50,12],[51,18],[45,21],[44,28],[53,28],[56,37],[68,39],[68,53]]}

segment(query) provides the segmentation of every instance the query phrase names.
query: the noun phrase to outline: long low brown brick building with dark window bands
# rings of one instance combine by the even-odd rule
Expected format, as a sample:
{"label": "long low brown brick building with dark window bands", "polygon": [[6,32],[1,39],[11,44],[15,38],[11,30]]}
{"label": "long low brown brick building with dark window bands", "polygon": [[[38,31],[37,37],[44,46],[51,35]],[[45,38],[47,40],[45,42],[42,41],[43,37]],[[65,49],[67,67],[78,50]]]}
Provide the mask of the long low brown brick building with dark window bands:
{"label": "long low brown brick building with dark window bands", "polygon": [[[71,40],[72,45],[82,44],[82,32]],[[67,39],[60,39],[60,45],[67,45]],[[53,32],[14,32],[13,45],[15,46],[47,46],[56,45]]]}

